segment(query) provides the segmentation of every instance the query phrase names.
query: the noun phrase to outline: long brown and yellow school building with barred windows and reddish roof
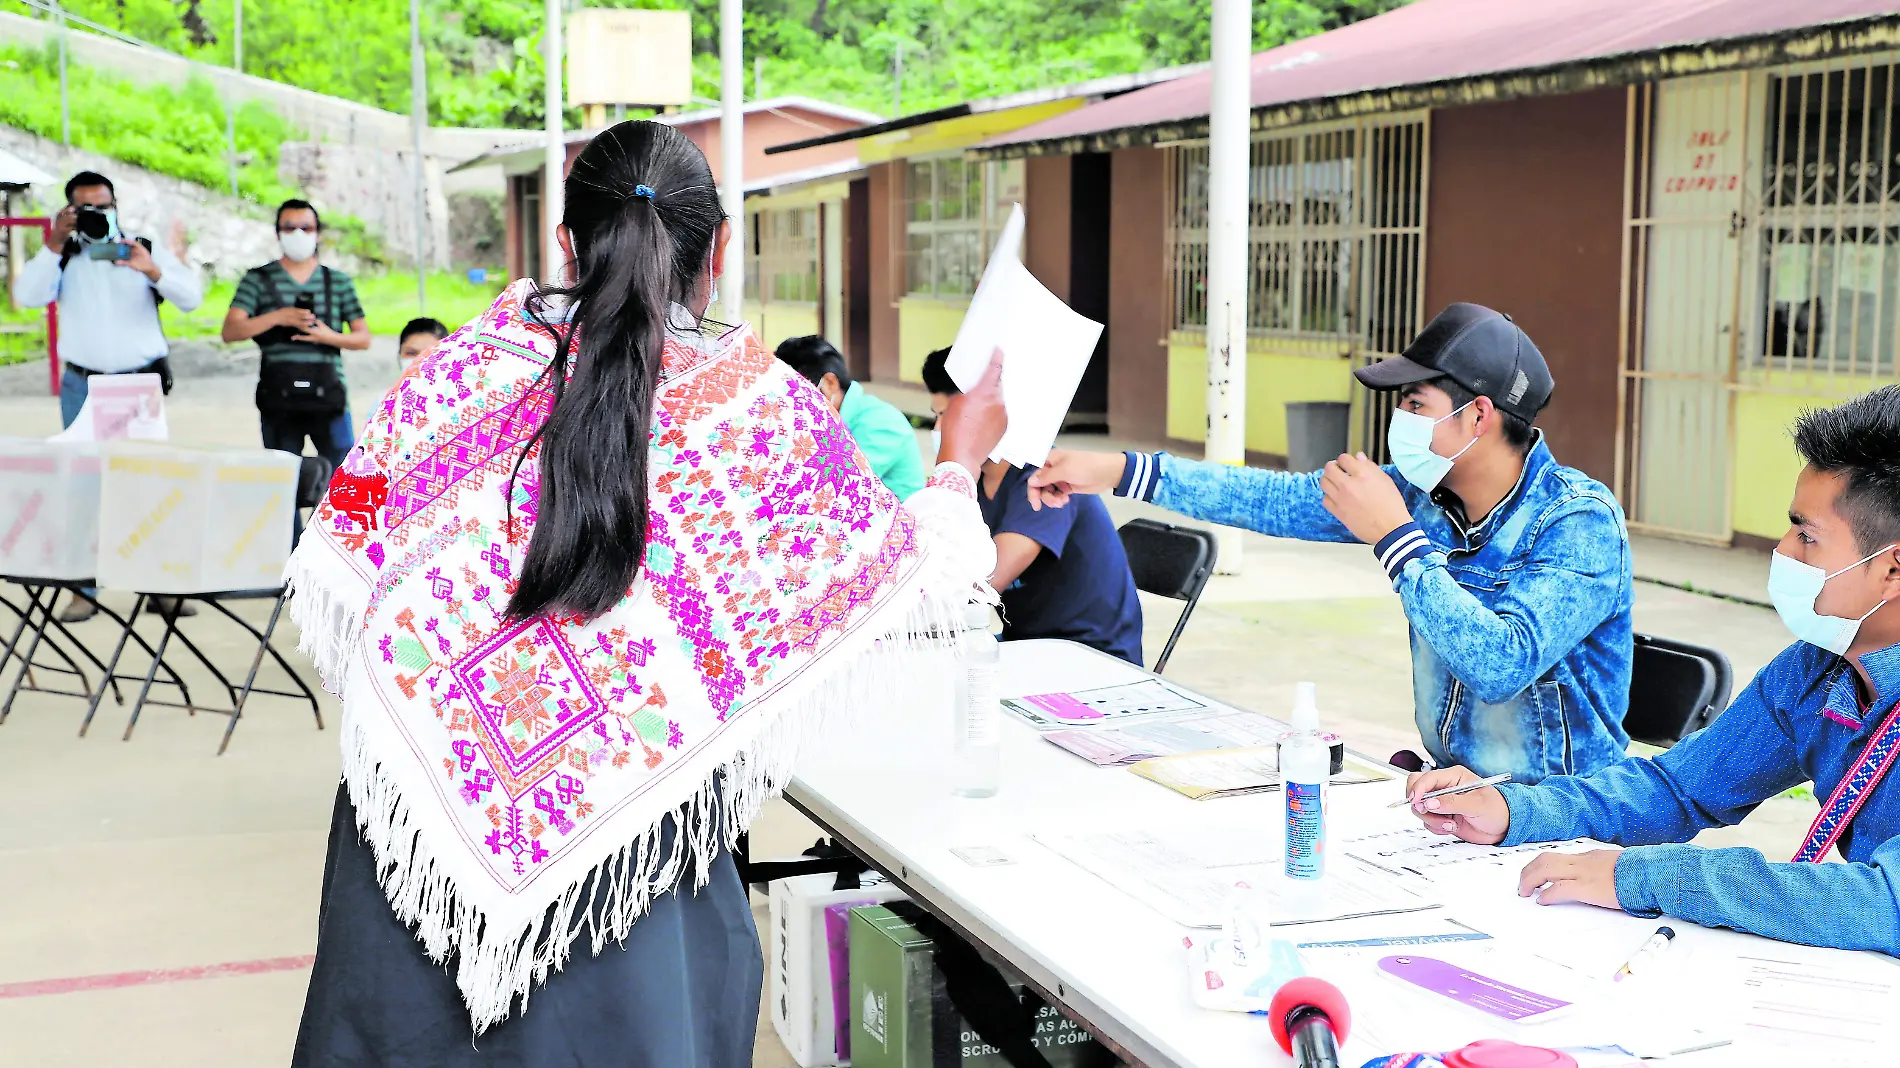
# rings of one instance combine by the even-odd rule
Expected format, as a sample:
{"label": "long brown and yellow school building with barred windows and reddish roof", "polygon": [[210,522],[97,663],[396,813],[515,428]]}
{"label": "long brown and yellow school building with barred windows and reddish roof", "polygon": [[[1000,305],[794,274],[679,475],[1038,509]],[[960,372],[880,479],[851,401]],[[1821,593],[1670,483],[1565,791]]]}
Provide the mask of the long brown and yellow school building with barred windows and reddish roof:
{"label": "long brown and yellow school building with barred windows and reddish roof", "polygon": [[[1252,460],[1277,464],[1284,405],[1315,399],[1351,403],[1353,445],[1381,452],[1389,401],[1351,369],[1476,300],[1543,348],[1550,447],[1632,526],[1778,538],[1790,420],[1896,380],[1889,8],[1416,0],[1254,55]],[[1195,452],[1208,74],[1163,74],[779,146],[859,144],[828,331],[853,371],[918,382],[1020,200],[1030,270],[1108,323],[1075,410]]]}

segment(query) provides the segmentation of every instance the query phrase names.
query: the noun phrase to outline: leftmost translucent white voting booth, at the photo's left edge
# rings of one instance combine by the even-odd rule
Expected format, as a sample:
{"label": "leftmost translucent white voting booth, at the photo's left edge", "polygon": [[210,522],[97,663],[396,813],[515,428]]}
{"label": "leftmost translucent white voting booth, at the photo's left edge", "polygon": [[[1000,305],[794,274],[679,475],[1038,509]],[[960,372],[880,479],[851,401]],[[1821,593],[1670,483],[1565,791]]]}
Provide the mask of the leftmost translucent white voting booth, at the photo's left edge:
{"label": "leftmost translucent white voting booth, at the photo's left edge", "polygon": [[99,557],[99,447],[0,437],[0,574],[72,582]]}

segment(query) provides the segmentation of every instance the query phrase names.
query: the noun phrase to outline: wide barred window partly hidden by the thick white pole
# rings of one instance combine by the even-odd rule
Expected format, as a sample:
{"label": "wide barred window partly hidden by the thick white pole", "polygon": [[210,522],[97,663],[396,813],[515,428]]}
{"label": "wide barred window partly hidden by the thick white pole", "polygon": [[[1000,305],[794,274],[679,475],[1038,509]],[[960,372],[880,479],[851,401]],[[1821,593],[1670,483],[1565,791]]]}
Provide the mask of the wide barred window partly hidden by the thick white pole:
{"label": "wide barred window partly hidden by the thick white pole", "polygon": [[[1206,329],[1205,143],[1168,150],[1172,327]],[[1398,352],[1417,329],[1423,120],[1256,133],[1246,325],[1256,336]]]}

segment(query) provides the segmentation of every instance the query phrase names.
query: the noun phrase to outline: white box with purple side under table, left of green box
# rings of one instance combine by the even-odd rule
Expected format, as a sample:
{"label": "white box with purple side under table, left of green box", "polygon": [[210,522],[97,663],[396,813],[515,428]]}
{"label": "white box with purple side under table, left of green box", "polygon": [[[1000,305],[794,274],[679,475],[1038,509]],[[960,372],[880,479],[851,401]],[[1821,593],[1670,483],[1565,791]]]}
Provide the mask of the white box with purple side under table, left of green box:
{"label": "white box with purple side under table, left of green box", "polygon": [[771,884],[771,1028],[802,1068],[851,1062],[849,910],[904,895],[887,882],[832,884],[828,874]]}

